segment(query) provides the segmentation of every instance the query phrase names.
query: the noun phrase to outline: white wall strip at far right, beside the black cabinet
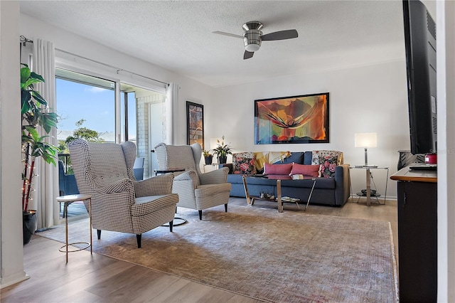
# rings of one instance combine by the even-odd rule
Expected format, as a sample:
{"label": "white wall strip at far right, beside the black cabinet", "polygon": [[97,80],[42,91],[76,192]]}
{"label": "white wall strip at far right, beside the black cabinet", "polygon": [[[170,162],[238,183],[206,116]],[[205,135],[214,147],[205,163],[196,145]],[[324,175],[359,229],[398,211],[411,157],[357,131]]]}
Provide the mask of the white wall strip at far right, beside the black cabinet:
{"label": "white wall strip at far right, beside the black cabinet", "polygon": [[455,302],[455,2],[437,2],[438,302]]}

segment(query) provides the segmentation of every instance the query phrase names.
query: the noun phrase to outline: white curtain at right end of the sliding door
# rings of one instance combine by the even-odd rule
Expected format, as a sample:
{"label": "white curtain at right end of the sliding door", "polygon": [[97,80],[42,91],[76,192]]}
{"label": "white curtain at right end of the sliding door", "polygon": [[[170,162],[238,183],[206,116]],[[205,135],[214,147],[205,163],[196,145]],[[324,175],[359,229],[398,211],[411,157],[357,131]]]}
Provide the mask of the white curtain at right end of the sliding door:
{"label": "white curtain at right end of the sliding door", "polygon": [[177,144],[178,132],[178,84],[166,87],[166,138],[167,144]]}

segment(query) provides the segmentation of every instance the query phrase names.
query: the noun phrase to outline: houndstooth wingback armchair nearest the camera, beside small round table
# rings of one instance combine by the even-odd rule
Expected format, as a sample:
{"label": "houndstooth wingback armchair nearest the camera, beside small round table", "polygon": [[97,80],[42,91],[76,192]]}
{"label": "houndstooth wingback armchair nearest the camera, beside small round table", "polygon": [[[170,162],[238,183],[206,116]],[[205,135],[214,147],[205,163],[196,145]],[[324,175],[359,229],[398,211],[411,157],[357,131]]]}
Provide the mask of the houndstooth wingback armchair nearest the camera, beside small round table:
{"label": "houndstooth wingback armchair nearest the camera, beside small round table", "polygon": [[142,233],[164,223],[172,231],[178,202],[178,195],[172,193],[173,174],[136,181],[136,146],[132,142],[77,139],[68,147],[77,188],[92,195],[92,228],[97,229],[98,239],[101,230],[135,233],[141,248]]}

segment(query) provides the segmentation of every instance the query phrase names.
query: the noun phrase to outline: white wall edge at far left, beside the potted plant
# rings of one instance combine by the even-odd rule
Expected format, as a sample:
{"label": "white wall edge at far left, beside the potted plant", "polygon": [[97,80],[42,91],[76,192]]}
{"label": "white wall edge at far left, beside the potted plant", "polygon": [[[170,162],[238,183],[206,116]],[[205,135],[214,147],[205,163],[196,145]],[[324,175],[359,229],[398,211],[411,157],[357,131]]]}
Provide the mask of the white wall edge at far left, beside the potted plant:
{"label": "white wall edge at far left, beside the potted plant", "polygon": [[19,4],[0,1],[0,287],[25,280],[21,211]]}

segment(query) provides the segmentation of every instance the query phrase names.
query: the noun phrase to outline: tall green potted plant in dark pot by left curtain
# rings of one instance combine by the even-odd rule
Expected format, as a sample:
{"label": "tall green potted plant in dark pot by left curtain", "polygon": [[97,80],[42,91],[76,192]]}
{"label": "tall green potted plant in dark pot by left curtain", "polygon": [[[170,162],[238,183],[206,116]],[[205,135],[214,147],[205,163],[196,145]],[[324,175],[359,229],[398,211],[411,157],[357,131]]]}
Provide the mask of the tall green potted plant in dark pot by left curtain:
{"label": "tall green potted plant in dark pot by left curtain", "polygon": [[[41,75],[33,73],[28,65],[21,64],[21,126],[22,126],[22,211],[23,211],[23,244],[27,244],[36,230],[36,211],[28,209],[28,202],[33,191],[32,182],[35,173],[36,158],[42,157],[48,164],[56,165],[58,147],[45,138],[49,137],[53,127],[57,127],[58,116],[50,112],[48,102],[34,89],[37,83],[43,83]],[[45,135],[39,133],[43,129]]]}

